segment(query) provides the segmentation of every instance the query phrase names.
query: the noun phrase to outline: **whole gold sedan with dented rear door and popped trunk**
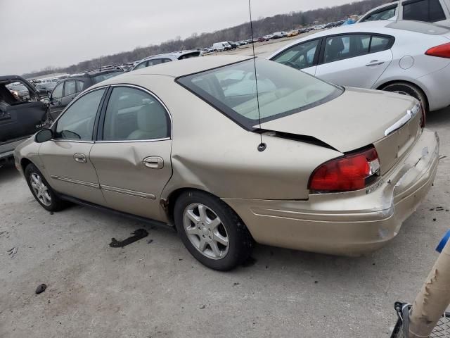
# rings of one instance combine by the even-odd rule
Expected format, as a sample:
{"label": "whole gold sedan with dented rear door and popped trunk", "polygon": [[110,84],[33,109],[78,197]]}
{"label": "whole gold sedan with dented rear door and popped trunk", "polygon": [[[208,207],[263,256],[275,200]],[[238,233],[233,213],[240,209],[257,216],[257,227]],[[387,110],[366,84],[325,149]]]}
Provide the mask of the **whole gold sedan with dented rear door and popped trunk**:
{"label": "whole gold sedan with dented rear door and popped trunk", "polygon": [[349,256],[389,242],[435,178],[424,123],[408,96],[191,58],[90,87],[15,165],[48,211],[72,201],[174,225],[198,261],[229,270],[254,242]]}

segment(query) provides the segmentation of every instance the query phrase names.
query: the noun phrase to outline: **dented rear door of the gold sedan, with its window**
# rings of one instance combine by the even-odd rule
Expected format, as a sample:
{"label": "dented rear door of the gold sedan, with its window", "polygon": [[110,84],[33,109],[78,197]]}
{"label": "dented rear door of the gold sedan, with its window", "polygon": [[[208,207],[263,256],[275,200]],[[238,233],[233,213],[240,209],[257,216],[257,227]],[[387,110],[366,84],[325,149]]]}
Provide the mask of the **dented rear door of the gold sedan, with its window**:
{"label": "dented rear door of the gold sedan, with its window", "polygon": [[160,195],[172,176],[169,113],[145,89],[112,88],[89,156],[103,196],[110,208],[162,220]]}

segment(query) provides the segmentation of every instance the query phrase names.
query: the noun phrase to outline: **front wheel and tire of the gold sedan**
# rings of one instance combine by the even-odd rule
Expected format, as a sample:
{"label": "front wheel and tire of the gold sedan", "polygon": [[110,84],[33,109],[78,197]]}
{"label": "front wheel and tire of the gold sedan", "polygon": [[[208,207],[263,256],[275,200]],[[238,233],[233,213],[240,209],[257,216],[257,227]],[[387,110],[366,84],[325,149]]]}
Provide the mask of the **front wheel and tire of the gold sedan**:
{"label": "front wheel and tire of the gold sedan", "polygon": [[47,211],[60,211],[65,207],[65,202],[55,194],[49,182],[34,164],[30,163],[25,168],[25,179],[34,199],[41,204],[42,208]]}

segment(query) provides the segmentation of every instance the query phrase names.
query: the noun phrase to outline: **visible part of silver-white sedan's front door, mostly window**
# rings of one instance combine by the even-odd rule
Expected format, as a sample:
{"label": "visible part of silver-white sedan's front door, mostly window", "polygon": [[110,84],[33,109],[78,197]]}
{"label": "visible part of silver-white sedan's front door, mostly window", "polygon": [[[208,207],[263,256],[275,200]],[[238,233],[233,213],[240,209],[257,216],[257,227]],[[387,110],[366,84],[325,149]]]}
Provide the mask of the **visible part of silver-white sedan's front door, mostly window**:
{"label": "visible part of silver-white sedan's front door, mostly window", "polygon": [[321,38],[313,39],[300,44],[295,44],[271,58],[271,61],[283,63],[292,68],[302,70],[314,75],[316,73],[317,60],[319,59],[319,46]]}

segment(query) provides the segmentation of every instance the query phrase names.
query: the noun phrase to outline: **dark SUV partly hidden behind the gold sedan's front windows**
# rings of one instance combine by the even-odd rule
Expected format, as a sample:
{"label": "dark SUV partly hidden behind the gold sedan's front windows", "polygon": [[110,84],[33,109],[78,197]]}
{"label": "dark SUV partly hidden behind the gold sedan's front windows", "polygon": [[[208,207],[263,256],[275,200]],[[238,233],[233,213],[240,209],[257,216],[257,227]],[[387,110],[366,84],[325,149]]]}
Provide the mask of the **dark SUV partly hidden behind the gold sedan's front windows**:
{"label": "dark SUV partly hidden behind the gold sedan's front windows", "polygon": [[55,120],[63,109],[75,99],[75,97],[84,89],[91,87],[98,82],[108,80],[110,77],[123,74],[121,68],[108,70],[95,70],[88,73],[78,74],[68,77],[59,82],[50,94],[50,118]]}

